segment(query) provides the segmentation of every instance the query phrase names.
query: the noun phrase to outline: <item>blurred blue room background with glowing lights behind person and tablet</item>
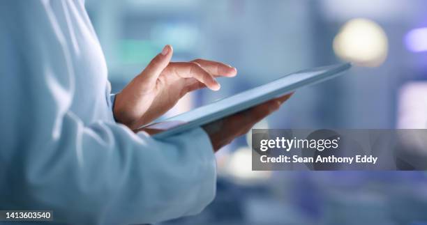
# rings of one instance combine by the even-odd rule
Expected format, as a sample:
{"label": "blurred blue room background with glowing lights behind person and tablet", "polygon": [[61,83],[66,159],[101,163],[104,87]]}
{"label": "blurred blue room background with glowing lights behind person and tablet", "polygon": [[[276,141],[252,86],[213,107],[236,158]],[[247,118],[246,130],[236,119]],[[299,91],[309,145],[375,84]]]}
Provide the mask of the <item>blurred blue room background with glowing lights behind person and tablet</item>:
{"label": "blurred blue room background with glowing lights behind person and tablet", "polygon": [[[425,0],[87,0],[114,92],[170,44],[173,61],[235,66],[221,91],[166,116],[296,70],[352,61],[300,89],[258,128],[426,128]],[[251,171],[248,137],[217,155],[216,199],[163,224],[427,224],[426,172]],[[427,162],[426,162],[427,163]]]}

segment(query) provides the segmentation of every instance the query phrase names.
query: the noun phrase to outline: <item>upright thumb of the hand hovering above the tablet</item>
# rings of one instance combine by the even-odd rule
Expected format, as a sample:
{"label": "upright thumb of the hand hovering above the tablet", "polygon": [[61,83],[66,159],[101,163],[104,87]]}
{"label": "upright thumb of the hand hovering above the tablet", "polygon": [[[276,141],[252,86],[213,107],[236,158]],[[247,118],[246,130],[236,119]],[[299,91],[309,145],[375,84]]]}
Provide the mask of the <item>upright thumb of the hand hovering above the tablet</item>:
{"label": "upright thumb of the hand hovering above the tablet", "polygon": [[163,47],[162,52],[157,54],[157,56],[151,60],[149,65],[147,65],[138,77],[144,79],[144,82],[147,82],[148,84],[156,82],[160,73],[166,68],[167,64],[169,64],[173,52],[174,50],[172,49],[172,46],[166,45]]}

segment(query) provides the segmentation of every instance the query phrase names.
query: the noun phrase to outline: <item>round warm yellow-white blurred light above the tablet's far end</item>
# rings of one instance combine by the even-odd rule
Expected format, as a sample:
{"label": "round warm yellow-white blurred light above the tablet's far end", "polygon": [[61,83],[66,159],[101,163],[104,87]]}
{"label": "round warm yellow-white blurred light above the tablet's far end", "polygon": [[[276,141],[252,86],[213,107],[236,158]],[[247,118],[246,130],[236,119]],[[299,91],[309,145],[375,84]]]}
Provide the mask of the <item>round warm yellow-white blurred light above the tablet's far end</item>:
{"label": "round warm yellow-white blurred light above the tablet's far end", "polygon": [[380,25],[366,19],[345,23],[334,39],[334,52],[345,61],[375,67],[387,58],[387,35]]}

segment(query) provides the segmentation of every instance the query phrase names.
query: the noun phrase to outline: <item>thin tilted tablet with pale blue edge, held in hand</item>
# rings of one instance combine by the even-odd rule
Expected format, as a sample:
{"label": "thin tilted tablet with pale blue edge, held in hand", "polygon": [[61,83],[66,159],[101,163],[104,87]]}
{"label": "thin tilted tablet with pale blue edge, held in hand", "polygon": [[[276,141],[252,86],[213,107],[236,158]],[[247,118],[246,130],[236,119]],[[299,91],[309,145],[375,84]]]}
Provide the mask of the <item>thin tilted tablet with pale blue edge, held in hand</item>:
{"label": "thin tilted tablet with pale blue edge, held in hand", "polygon": [[194,127],[200,127],[225,116],[230,116],[280,95],[290,93],[297,88],[324,82],[327,79],[342,74],[350,67],[350,63],[344,63],[294,72],[280,77],[273,82],[251,88],[248,91],[217,100],[211,104],[142,128],[156,130],[156,132],[153,132],[155,134],[152,134],[156,139],[170,137],[171,135],[190,130]]}

